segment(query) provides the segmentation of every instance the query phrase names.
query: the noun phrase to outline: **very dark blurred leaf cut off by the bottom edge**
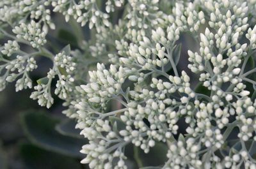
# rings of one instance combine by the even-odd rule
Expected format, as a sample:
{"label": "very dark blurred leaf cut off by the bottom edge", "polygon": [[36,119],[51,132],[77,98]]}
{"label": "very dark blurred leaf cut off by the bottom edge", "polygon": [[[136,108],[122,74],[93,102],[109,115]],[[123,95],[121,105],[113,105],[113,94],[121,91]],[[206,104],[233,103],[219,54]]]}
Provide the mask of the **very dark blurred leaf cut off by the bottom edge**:
{"label": "very dark blurred leaf cut off by the bottom edge", "polygon": [[82,169],[77,159],[45,151],[31,143],[20,145],[20,156],[26,169]]}

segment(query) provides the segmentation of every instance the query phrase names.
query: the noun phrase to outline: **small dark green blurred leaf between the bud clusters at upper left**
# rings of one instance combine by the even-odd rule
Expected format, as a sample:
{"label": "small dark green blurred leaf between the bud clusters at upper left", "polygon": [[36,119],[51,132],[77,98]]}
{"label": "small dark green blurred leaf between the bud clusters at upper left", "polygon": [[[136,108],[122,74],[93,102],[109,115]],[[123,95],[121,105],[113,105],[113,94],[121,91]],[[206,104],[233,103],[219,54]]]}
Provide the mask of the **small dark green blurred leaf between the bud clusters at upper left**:
{"label": "small dark green blurred leaf between the bud clusters at upper left", "polygon": [[57,38],[63,41],[63,43],[68,43],[72,46],[77,47],[77,38],[73,33],[71,33],[71,31],[68,31],[66,29],[60,29],[58,31]]}

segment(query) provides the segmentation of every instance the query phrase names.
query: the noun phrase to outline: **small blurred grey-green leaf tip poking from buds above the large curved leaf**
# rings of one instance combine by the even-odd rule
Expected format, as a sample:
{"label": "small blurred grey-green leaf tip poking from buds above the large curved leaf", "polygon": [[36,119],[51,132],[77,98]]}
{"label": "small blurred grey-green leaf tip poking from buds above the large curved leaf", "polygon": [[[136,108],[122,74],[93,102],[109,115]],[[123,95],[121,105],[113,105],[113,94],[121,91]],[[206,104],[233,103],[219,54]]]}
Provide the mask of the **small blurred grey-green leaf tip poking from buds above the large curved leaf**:
{"label": "small blurred grey-green leaf tip poking from buds above the large curved leaf", "polygon": [[76,129],[76,121],[74,121],[74,119],[66,119],[60,122],[56,125],[55,129],[61,133],[61,135],[83,138],[83,136],[80,135],[80,130]]}

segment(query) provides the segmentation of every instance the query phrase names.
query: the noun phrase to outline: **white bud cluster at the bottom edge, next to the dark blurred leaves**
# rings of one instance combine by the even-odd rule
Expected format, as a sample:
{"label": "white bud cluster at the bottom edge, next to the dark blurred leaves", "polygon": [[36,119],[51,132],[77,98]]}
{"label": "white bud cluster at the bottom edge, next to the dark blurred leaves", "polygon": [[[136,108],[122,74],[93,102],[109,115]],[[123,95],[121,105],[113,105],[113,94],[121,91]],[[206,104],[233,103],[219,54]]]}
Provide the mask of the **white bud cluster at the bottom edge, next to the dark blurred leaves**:
{"label": "white bud cluster at the bottom edge, next to the dark blurred leaves", "polygon": [[[120,148],[125,144],[122,143],[122,140],[118,140],[118,136],[114,131],[111,130],[111,127],[108,125],[108,121],[98,120],[97,125],[99,128],[102,127],[104,131],[108,132],[105,139],[99,140],[98,143],[90,141],[87,145],[82,147],[81,152],[87,154],[81,163],[88,164],[90,168],[116,168],[116,169],[127,169],[124,160],[126,159],[124,153],[120,151]],[[84,128],[81,133],[84,135],[94,135],[97,136],[97,131],[92,128]],[[117,139],[116,139],[117,138]],[[119,146],[111,144],[117,143]]]}

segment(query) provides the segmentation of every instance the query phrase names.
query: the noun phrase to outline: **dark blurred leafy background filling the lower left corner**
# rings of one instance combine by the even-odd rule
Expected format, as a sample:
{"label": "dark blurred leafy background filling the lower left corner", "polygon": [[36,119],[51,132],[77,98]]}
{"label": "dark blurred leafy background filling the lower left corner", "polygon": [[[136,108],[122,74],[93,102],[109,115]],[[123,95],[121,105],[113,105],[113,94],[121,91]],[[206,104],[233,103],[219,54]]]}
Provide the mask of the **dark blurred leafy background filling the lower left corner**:
{"label": "dark blurred leafy background filling the lower left corner", "polygon": [[79,150],[85,139],[61,114],[61,101],[47,110],[30,93],[15,92],[13,84],[0,92],[0,168],[84,168]]}

